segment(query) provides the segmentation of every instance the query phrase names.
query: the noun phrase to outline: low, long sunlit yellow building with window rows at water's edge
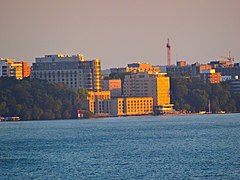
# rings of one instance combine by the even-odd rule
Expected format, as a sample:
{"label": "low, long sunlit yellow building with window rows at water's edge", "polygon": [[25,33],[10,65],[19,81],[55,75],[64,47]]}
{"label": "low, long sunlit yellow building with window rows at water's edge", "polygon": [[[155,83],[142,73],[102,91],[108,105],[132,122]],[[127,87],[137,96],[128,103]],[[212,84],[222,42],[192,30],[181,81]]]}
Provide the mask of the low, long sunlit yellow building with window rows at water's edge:
{"label": "low, long sunlit yellow building with window rows at water's edge", "polygon": [[111,99],[111,115],[147,115],[153,112],[152,97],[125,97]]}

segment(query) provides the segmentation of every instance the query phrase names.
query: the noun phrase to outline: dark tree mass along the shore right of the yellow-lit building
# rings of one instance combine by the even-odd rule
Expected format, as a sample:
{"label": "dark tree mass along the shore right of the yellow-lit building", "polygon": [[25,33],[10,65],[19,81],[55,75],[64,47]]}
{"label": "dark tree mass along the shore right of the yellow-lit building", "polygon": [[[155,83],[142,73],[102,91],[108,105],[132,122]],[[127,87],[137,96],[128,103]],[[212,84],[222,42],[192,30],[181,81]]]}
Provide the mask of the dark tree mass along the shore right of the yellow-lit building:
{"label": "dark tree mass along the shore right of the yellow-lit building", "polygon": [[240,112],[240,94],[231,92],[229,82],[211,84],[197,77],[171,78],[171,101],[176,110],[217,113]]}

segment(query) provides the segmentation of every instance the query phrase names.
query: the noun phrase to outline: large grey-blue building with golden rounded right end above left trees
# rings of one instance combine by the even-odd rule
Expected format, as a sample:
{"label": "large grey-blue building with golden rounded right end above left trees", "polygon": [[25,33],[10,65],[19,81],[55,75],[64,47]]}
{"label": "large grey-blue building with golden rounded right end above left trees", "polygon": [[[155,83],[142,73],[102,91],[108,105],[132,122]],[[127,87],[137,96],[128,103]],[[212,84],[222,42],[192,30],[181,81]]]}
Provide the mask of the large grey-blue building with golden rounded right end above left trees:
{"label": "large grey-blue building with golden rounded right end above left trees", "polygon": [[101,91],[101,61],[85,61],[83,55],[46,55],[36,58],[31,77],[53,83],[64,83],[70,88]]}

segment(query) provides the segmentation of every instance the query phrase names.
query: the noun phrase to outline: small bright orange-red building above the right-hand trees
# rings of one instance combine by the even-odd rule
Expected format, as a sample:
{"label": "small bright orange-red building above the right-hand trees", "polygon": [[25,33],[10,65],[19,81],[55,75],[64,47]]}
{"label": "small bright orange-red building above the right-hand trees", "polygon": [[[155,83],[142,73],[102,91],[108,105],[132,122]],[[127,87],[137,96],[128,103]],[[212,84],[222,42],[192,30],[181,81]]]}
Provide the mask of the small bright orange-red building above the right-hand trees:
{"label": "small bright orange-red building above the right-hand trees", "polygon": [[209,81],[212,84],[221,82],[221,73],[215,72],[215,69],[203,70],[200,74],[201,79],[204,81]]}

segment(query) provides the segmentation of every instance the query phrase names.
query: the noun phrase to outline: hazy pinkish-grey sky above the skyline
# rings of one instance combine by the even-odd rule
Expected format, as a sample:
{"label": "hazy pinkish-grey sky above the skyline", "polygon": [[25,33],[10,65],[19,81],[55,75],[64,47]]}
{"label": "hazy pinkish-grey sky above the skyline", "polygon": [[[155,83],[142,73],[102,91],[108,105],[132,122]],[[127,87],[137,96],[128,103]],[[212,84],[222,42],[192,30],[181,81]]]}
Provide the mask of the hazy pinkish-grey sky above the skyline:
{"label": "hazy pinkish-grey sky above the skyline", "polygon": [[0,0],[0,57],[34,62],[46,54],[99,58],[102,69],[240,61],[240,0]]}

